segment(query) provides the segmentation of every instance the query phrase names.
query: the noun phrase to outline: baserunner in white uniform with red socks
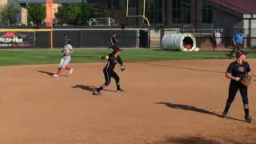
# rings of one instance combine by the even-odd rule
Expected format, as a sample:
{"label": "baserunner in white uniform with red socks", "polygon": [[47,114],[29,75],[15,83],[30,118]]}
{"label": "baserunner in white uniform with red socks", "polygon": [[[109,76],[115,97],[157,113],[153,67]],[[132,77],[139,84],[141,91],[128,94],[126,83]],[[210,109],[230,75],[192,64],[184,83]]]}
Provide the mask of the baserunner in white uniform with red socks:
{"label": "baserunner in white uniform with red socks", "polygon": [[64,42],[65,42],[65,46],[64,46],[64,49],[62,50],[63,58],[62,58],[61,62],[59,63],[57,74],[53,75],[54,78],[60,76],[62,69],[69,70],[70,75],[73,73],[73,70],[74,70],[74,69],[70,68],[70,66],[68,66],[68,64],[70,63],[70,59],[71,59],[70,54],[73,54],[73,52],[74,52],[73,47],[70,44],[70,38],[66,37]]}

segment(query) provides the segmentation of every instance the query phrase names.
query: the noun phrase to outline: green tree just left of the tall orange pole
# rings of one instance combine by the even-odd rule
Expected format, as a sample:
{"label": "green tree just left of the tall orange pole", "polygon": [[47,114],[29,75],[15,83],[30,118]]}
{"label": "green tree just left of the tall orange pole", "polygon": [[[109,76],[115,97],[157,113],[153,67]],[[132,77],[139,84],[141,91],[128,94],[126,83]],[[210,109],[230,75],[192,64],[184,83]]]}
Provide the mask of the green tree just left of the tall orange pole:
{"label": "green tree just left of the tall orange pole", "polygon": [[46,6],[42,4],[31,4],[28,7],[28,21],[34,25],[42,25],[42,20],[46,18]]}

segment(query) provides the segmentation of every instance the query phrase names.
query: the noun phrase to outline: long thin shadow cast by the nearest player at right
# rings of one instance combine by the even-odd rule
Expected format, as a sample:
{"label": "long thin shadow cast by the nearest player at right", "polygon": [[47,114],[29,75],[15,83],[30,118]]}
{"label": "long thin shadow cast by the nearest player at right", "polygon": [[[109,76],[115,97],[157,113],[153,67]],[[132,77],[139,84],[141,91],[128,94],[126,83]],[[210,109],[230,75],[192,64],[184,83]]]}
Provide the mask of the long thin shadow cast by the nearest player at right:
{"label": "long thin shadow cast by the nearest player at right", "polygon": [[[155,102],[155,104],[165,105],[167,107],[170,107],[170,108],[173,108],[173,109],[178,109],[178,110],[190,110],[190,111],[194,111],[194,112],[197,112],[197,113],[215,115],[219,118],[222,118],[222,115],[220,115],[220,114],[215,114],[214,112],[211,112],[209,110],[200,109],[200,108],[195,107],[195,106],[174,104],[174,103],[170,103],[170,102]],[[230,118],[230,117],[226,117],[226,118]],[[236,118],[230,118],[230,119],[240,121],[240,122],[245,122],[245,121],[242,121],[242,120],[236,119]]]}

